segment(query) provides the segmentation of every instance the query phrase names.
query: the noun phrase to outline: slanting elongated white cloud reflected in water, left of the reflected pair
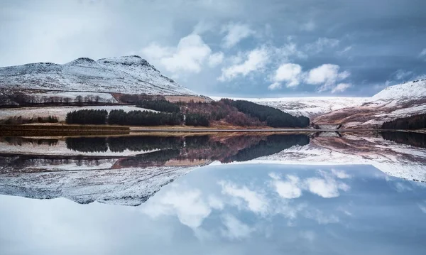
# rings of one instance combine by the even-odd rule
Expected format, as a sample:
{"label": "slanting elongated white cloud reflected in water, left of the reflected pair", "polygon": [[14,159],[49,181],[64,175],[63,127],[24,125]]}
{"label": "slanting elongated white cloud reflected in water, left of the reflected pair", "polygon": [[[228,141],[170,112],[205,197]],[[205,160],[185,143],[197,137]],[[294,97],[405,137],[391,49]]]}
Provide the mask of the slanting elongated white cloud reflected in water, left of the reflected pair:
{"label": "slanting elongated white cloud reflected in water, left of the reflected pair", "polygon": [[234,183],[224,181],[219,182],[219,185],[222,186],[222,194],[244,200],[247,204],[247,207],[252,212],[265,213],[268,209],[266,197],[263,197],[263,195],[259,194],[258,192],[249,190],[249,188],[246,186],[239,188]]}

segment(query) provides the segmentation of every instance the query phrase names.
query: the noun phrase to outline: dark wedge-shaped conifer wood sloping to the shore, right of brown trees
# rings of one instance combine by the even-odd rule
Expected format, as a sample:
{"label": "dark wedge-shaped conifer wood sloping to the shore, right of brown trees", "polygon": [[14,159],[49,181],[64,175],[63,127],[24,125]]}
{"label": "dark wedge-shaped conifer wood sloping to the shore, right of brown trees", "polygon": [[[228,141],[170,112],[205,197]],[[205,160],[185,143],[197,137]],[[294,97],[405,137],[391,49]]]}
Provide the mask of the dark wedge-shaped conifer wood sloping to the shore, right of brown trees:
{"label": "dark wedge-shaped conifer wood sloping to the shore, right of brown trees", "polygon": [[310,124],[309,118],[305,116],[296,117],[273,107],[267,107],[244,100],[234,101],[231,99],[224,99],[224,102],[233,107],[236,107],[239,112],[249,114],[250,116],[258,118],[260,121],[266,121],[266,125],[268,126],[306,127]]}

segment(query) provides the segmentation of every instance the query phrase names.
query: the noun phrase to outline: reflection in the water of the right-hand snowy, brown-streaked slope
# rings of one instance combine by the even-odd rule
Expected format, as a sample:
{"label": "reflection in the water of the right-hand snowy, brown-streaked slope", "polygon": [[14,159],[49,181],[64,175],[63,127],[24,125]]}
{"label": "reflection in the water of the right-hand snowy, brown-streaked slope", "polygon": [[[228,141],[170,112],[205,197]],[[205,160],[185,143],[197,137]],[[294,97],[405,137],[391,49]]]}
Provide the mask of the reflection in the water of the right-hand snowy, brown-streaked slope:
{"label": "reflection in the water of the right-hand snowy, brown-streaked slope", "polygon": [[248,163],[301,165],[372,165],[388,175],[426,182],[426,151],[381,138],[312,139],[310,145],[294,146]]}

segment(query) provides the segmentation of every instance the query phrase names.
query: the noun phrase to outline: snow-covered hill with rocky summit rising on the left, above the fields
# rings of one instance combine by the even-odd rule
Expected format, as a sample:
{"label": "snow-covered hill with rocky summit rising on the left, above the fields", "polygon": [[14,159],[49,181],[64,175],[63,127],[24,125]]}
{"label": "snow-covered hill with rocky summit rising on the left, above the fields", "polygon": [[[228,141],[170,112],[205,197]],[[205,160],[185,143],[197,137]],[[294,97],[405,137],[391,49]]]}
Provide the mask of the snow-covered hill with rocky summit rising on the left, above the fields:
{"label": "snow-covered hill with rocky summit rising on the left, above the fields", "polygon": [[78,58],[65,65],[33,63],[0,68],[0,89],[44,89],[124,94],[197,95],[137,55]]}

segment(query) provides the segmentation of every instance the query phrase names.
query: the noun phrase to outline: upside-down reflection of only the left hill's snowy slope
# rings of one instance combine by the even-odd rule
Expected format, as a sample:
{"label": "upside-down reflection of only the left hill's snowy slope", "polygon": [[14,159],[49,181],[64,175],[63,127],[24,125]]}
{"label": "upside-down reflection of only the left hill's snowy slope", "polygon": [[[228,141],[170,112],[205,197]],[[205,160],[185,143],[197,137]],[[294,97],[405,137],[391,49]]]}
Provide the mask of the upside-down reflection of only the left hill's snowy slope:
{"label": "upside-down reflection of only the left hill's snowy slope", "polygon": [[190,167],[148,167],[2,174],[0,194],[38,199],[66,197],[81,204],[141,205]]}

